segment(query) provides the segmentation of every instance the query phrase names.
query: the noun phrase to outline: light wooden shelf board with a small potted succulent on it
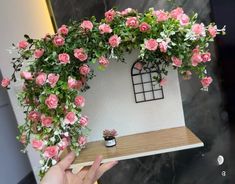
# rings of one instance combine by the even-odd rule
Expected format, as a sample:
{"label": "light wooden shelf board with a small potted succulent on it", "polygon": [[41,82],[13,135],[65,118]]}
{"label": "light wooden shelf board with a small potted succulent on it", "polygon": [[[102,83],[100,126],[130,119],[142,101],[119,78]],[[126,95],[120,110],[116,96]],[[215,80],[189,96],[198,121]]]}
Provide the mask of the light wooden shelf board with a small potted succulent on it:
{"label": "light wooden shelf board with a small potted succulent on it", "polygon": [[187,127],[163,129],[117,138],[117,145],[104,146],[104,141],[87,144],[75,159],[73,166],[91,165],[97,155],[103,155],[103,162],[125,160],[172,151],[202,147],[203,142]]}

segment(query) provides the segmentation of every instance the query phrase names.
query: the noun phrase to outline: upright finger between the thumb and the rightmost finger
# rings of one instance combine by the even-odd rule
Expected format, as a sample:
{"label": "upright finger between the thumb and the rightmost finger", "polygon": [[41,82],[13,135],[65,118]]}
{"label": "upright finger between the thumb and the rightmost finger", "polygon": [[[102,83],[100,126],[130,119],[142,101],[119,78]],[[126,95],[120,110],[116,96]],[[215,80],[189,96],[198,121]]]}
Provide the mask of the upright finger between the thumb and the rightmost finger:
{"label": "upright finger between the thumb and the rightmost finger", "polygon": [[100,163],[102,161],[102,156],[98,156],[95,161],[93,162],[91,168],[89,169],[85,179],[84,179],[84,184],[92,184],[94,183],[96,180],[96,171],[98,170],[98,168],[100,167]]}

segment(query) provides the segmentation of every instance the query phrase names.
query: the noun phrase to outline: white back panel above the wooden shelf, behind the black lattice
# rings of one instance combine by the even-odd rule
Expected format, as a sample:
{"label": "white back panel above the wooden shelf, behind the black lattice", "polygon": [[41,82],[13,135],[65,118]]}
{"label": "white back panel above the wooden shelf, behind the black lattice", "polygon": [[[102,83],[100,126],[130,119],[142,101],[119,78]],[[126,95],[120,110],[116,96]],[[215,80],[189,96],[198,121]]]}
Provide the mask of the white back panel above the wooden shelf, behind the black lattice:
{"label": "white back panel above the wooden shelf, behind the black lattice", "polygon": [[89,81],[83,111],[92,130],[89,141],[101,140],[104,129],[115,128],[124,136],[185,125],[176,70],[167,76],[164,99],[135,103],[131,66],[137,56],[138,52],[132,52],[125,55],[126,63],[112,61],[106,71],[96,71],[96,77]]}

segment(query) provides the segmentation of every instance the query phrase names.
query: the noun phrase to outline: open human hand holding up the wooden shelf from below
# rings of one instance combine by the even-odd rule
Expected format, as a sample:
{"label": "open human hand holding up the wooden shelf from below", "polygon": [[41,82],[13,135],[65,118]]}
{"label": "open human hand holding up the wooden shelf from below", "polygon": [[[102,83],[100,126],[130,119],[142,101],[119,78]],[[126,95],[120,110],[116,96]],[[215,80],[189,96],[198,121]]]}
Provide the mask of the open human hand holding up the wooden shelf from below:
{"label": "open human hand holding up the wooden shelf from below", "polygon": [[75,153],[70,152],[58,164],[52,166],[43,177],[41,184],[94,184],[107,170],[118,162],[101,164],[102,156],[98,156],[90,168],[84,168],[77,174],[69,170],[75,158]]}

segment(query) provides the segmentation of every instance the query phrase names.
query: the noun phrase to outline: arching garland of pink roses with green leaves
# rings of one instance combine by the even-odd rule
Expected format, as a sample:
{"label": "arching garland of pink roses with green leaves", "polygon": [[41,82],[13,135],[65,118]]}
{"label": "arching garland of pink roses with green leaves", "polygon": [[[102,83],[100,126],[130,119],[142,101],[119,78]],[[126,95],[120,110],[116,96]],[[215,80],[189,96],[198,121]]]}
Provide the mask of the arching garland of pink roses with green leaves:
{"label": "arching garland of pink roses with green leaves", "polygon": [[94,77],[91,65],[97,63],[104,70],[110,58],[123,61],[125,52],[138,49],[140,60],[159,67],[155,80],[160,84],[167,82],[172,66],[185,78],[194,72],[207,89],[212,82],[205,72],[211,61],[208,46],[220,33],[225,28],[198,23],[197,14],[188,16],[180,7],[170,12],[151,8],[143,14],[128,8],[107,11],[101,22],[95,17],[74,21],[54,35],[42,39],[25,35],[25,40],[13,44],[19,57],[13,58],[11,79],[4,78],[1,85],[8,89],[20,72],[24,85],[18,99],[26,117],[18,139],[40,151],[40,175],[57,163],[65,148],[79,155],[85,147],[90,130],[88,117],[82,115],[81,92],[89,89],[88,81]]}

